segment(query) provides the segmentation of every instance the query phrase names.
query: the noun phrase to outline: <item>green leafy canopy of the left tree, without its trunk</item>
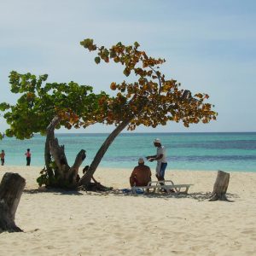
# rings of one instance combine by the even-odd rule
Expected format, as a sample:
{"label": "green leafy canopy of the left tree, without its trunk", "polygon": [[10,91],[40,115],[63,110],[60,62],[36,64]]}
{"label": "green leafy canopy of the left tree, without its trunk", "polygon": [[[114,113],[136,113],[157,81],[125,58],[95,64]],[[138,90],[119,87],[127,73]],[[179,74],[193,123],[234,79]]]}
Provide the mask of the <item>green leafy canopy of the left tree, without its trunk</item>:
{"label": "green leafy canopy of the left tree, without its trunk", "polygon": [[58,116],[61,125],[67,129],[86,127],[97,121],[99,114],[98,99],[108,98],[104,92],[96,95],[89,85],[77,83],[45,83],[47,74],[38,78],[31,74],[12,71],[9,75],[11,92],[20,96],[15,105],[0,104],[3,117],[9,124],[5,131],[8,137],[30,138],[34,133],[45,134],[50,121]]}

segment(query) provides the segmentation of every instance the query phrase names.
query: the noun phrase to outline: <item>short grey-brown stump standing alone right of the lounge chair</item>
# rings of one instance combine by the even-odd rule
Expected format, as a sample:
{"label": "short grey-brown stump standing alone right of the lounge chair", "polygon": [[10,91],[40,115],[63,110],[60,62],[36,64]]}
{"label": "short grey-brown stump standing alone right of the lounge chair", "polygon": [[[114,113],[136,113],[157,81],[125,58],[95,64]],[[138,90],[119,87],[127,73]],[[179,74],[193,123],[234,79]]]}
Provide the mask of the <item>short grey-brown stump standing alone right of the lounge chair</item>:
{"label": "short grey-brown stump standing alone right of the lounge chair", "polygon": [[209,201],[228,201],[226,192],[230,182],[230,173],[218,171],[216,181],[213,186],[212,197]]}

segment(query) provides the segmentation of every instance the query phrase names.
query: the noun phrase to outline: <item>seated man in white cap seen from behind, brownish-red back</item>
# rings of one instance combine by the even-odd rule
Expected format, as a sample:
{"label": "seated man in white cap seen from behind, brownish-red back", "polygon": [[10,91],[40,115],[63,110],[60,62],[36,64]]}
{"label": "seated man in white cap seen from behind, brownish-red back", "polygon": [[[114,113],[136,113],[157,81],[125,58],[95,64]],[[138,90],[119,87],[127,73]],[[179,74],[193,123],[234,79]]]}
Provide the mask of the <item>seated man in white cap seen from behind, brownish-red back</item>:
{"label": "seated man in white cap seen from behind, brownish-red back", "polygon": [[151,181],[151,171],[148,166],[144,165],[143,158],[139,158],[138,166],[133,169],[130,177],[131,187],[133,186],[147,186]]}

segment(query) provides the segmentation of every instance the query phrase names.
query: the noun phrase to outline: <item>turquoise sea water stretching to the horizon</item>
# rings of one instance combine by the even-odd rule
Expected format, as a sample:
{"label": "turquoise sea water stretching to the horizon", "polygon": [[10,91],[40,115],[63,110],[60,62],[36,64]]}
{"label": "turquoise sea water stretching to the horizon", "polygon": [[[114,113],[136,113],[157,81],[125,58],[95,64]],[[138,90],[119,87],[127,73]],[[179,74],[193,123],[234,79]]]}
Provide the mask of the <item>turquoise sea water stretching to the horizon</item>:
{"label": "turquoise sea water stretching to the horizon", "polygon": [[[90,165],[96,151],[108,134],[56,134],[66,148],[69,165],[80,149],[87,157],[83,166]],[[159,137],[166,147],[168,170],[223,170],[256,172],[256,132],[241,133],[123,133],[105,154],[100,166],[132,168],[138,157],[155,154],[152,143]],[[45,137],[36,135],[20,141],[5,137],[0,149],[6,153],[6,166],[26,165],[26,148],[32,151],[32,166],[44,166]],[[147,162],[152,169],[155,163]]]}

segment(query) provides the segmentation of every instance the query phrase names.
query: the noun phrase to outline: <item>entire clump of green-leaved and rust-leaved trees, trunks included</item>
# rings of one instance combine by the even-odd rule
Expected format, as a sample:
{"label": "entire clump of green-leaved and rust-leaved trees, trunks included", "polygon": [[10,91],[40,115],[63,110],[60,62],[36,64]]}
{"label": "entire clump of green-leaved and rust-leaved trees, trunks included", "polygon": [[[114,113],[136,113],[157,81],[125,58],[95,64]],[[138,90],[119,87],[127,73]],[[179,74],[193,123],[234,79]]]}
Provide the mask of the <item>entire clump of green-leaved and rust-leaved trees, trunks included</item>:
{"label": "entire clump of green-leaved and rust-leaved trees, trunks included", "polygon": [[[61,181],[59,184],[67,187],[90,183],[103,155],[125,127],[132,131],[138,125],[156,127],[166,125],[168,121],[182,121],[184,126],[189,127],[189,124],[200,121],[208,123],[216,119],[217,113],[212,110],[214,106],[207,102],[207,94],[199,92],[192,95],[190,90],[182,89],[177,80],[166,79],[165,74],[160,72],[160,65],[166,60],[148,56],[139,49],[137,42],[128,46],[119,42],[106,48],[97,46],[93,39],[87,38],[80,44],[96,52],[96,64],[101,61],[120,64],[124,67],[125,76],[132,75],[134,82],[113,81],[109,86],[116,94],[108,96],[103,91],[93,93],[89,85],[79,85],[73,81],[46,83],[46,74],[37,78],[31,73],[13,71],[9,75],[11,91],[20,98],[15,105],[6,102],[0,104],[3,117],[10,125],[5,131],[8,137],[30,138],[37,132],[47,135],[44,150],[46,173],[42,173],[46,175],[44,183],[48,182],[48,177],[54,177],[55,184]],[[86,156],[85,151],[80,151],[70,167],[54,131],[61,126],[67,129],[85,128],[95,123],[115,125],[116,128],[99,148],[90,168],[78,182],[79,166]],[[50,165],[50,154],[55,158],[55,170]]]}

